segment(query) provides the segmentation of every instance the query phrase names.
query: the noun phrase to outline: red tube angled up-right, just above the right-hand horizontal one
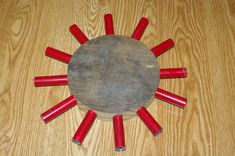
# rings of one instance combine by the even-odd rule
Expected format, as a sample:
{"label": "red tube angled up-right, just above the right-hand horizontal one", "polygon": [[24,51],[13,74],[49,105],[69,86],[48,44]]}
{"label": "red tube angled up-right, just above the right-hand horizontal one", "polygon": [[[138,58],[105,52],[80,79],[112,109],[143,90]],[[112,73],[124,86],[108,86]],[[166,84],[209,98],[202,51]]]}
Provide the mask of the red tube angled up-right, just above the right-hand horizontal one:
{"label": "red tube angled up-right, just above the right-hand horizontal one", "polygon": [[174,47],[174,41],[172,39],[168,39],[159,45],[153,47],[151,51],[155,55],[155,57],[158,57],[159,55],[163,54],[167,50],[171,49]]}

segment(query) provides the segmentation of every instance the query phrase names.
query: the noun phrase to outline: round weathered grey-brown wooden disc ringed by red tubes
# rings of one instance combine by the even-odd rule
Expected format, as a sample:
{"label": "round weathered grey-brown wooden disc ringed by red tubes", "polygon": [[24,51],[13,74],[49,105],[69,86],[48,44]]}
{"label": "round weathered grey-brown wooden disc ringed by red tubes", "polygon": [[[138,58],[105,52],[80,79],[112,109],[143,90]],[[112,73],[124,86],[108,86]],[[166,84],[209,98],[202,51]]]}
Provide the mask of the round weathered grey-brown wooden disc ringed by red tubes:
{"label": "round weathered grey-brown wooden disc ringed by red tubes", "polygon": [[147,105],[159,84],[152,52],[130,37],[106,35],[80,46],[68,66],[69,89],[82,110],[101,119],[119,113],[134,116]]}

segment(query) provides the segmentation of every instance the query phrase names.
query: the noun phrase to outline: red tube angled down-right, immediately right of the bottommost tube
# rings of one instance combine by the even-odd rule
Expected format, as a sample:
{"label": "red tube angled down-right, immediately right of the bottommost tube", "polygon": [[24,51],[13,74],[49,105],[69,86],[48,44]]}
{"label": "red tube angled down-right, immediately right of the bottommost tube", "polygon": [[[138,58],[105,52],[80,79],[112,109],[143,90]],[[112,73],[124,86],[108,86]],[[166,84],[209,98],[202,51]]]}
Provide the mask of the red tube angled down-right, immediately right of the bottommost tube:
{"label": "red tube angled down-right, immediately right of the bottommost tube", "polygon": [[136,111],[136,113],[154,136],[157,136],[162,132],[161,126],[157,123],[157,121],[152,117],[152,115],[144,106],[141,106]]}

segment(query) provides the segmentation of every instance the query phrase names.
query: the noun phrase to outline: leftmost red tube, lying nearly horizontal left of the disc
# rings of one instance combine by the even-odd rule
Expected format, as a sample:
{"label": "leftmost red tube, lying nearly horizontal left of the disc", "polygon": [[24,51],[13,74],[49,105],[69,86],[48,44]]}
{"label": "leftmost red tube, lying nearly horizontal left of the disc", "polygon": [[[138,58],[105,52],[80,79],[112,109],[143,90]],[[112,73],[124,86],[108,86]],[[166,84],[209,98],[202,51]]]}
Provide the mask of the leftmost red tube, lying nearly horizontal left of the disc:
{"label": "leftmost red tube, lying nearly horizontal left of the disc", "polygon": [[35,87],[58,86],[58,85],[67,85],[67,84],[68,84],[67,75],[35,76],[34,77]]}

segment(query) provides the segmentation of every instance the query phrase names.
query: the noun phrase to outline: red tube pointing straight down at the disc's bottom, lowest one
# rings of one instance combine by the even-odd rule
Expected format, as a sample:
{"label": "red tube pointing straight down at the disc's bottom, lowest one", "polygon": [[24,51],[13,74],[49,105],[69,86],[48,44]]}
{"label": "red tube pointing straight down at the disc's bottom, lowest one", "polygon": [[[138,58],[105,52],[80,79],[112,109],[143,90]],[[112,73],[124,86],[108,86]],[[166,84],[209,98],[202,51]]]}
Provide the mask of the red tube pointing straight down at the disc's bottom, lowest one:
{"label": "red tube pointing straight down at the disc's bottom, lowest one", "polygon": [[120,114],[113,116],[113,131],[115,140],[115,150],[124,151],[125,146],[125,135],[123,127],[123,117]]}

